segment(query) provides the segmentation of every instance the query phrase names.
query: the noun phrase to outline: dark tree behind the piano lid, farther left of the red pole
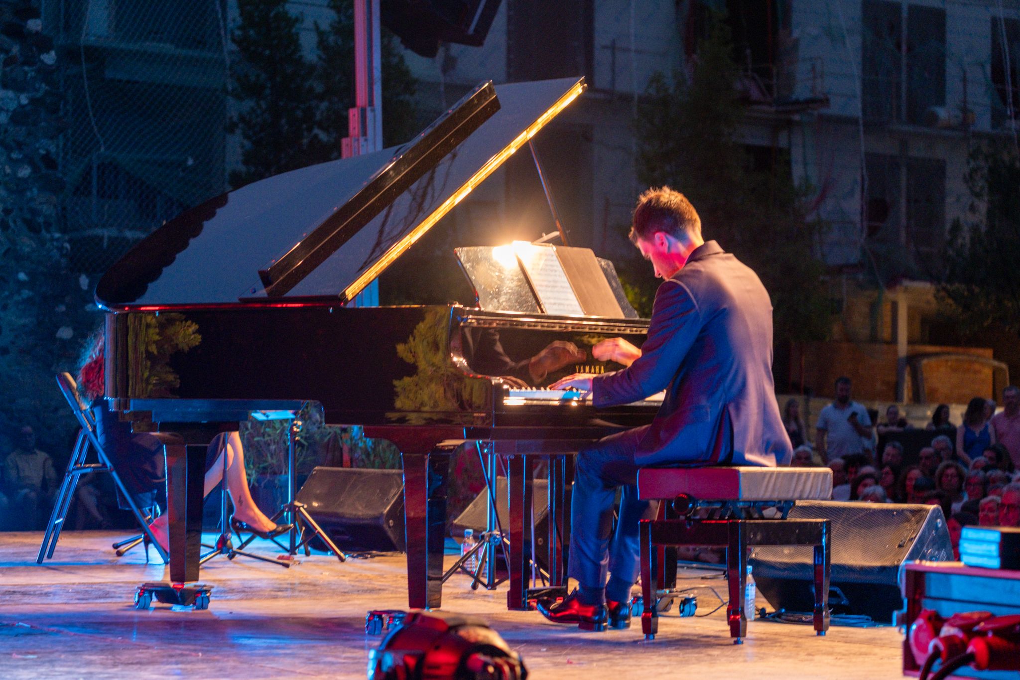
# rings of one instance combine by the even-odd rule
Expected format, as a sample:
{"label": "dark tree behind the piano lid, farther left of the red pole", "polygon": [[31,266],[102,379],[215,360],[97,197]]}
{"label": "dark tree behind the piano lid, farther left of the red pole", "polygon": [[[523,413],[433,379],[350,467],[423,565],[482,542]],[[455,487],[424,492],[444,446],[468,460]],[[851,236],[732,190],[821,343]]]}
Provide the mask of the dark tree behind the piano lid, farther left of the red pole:
{"label": "dark tree behind the piano lid, farther left of the red pole", "polygon": [[240,23],[232,40],[241,57],[234,64],[231,97],[240,111],[227,132],[241,135],[243,169],[230,173],[235,188],[309,164],[314,145],[314,66],[298,38],[301,17],[287,0],[238,0]]}

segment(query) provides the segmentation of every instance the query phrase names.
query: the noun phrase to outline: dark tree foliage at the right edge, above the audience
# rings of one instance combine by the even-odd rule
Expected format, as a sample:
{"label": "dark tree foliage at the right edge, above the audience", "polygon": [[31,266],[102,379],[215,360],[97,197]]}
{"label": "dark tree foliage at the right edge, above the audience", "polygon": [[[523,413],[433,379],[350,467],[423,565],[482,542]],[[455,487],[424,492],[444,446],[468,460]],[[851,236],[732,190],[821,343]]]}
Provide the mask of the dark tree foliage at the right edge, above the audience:
{"label": "dark tree foliage at the right edge, above the audience", "polygon": [[970,334],[1005,329],[1020,335],[1020,154],[1011,145],[976,147],[967,184],[967,219],[954,220],[939,293]]}

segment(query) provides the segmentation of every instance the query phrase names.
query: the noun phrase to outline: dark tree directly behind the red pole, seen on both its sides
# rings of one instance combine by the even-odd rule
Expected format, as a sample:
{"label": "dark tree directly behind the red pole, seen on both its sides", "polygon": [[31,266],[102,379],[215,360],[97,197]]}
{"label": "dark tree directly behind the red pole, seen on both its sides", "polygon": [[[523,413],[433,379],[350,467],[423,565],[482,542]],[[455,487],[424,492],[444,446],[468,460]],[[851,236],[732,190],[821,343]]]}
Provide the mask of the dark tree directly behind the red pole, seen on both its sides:
{"label": "dark tree directly behind the red pole, seen on both its sides", "polygon": [[[326,27],[315,25],[320,147],[314,155],[319,161],[340,158],[341,141],[348,135],[347,110],[354,106],[354,3],[329,0],[329,8],[335,18]],[[422,124],[414,101],[417,81],[386,29],[381,48],[382,144],[391,147],[410,140]]]}

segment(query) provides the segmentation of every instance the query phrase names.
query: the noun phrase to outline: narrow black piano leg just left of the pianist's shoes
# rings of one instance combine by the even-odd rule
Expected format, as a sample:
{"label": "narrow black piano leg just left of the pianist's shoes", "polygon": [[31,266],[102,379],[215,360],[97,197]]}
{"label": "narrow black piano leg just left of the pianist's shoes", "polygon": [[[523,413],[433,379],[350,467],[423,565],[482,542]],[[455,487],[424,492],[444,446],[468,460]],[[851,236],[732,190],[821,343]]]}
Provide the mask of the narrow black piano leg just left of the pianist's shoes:
{"label": "narrow black piano leg just left of the pianist's shoes", "polygon": [[530,577],[531,528],[534,526],[532,511],[532,477],[534,461],[531,456],[510,456],[507,460],[507,494],[509,496],[510,532],[510,589],[507,591],[507,609],[527,611],[527,587]]}

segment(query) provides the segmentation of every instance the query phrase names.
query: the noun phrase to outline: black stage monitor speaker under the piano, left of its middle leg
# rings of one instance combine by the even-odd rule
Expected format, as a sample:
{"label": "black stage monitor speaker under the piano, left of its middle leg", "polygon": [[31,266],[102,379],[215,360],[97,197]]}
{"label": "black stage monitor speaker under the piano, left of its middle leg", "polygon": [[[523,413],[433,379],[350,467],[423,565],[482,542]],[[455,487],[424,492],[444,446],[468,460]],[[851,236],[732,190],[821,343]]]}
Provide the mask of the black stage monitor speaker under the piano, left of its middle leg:
{"label": "black stage monitor speaker under the piano, left of its middle leg", "polygon": [[[345,552],[403,552],[404,475],[400,470],[312,470],[298,502]],[[325,548],[316,539],[312,546]]]}

